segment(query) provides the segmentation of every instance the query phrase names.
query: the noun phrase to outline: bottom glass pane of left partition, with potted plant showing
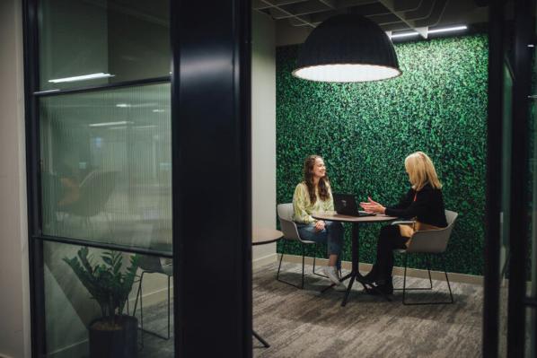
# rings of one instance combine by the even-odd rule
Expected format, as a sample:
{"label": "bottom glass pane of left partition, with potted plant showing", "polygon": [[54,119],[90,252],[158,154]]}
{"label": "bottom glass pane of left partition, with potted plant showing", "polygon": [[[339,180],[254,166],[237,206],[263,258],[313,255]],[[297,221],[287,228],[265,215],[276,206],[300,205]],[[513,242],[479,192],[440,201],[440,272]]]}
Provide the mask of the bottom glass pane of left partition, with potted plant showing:
{"label": "bottom glass pane of left partition, with potted plant showing", "polygon": [[171,260],[55,242],[43,255],[47,357],[174,356]]}

